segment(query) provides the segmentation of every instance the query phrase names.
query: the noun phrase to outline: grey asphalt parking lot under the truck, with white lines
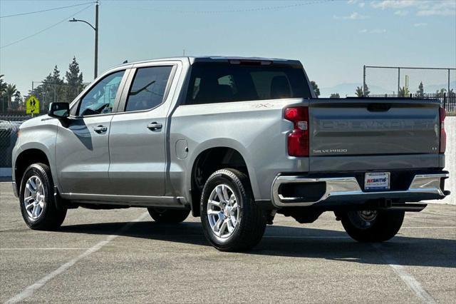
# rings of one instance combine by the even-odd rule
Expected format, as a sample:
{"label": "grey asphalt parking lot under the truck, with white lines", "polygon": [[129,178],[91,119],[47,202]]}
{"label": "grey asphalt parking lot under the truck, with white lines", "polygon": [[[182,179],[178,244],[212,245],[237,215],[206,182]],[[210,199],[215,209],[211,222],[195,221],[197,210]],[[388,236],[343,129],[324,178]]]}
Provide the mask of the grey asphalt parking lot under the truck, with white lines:
{"label": "grey asphalt parking lot under the truck, with white lines", "polygon": [[210,247],[199,218],[154,223],[145,209],[68,211],[60,231],[22,221],[0,183],[0,300],[5,302],[455,303],[456,206],[408,213],[387,243],[356,243],[332,213],[276,216],[249,253]]}

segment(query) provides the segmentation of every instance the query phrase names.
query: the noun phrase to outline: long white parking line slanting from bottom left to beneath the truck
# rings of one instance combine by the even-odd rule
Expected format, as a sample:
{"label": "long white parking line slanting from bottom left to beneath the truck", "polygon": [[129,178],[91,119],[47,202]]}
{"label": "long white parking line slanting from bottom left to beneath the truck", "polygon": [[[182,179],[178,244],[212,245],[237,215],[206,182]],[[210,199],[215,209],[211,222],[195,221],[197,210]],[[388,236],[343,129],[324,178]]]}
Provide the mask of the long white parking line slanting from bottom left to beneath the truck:
{"label": "long white parking line slanting from bottom left to beneath the truck", "polygon": [[88,255],[97,252],[98,250],[103,248],[103,246],[107,245],[111,240],[114,240],[115,238],[117,238],[119,236],[119,234],[123,233],[125,230],[128,230],[131,226],[133,226],[135,223],[141,221],[148,215],[149,215],[149,213],[147,213],[147,212],[142,213],[142,215],[139,218],[136,218],[135,220],[131,221],[130,223],[125,224],[125,226],[120,228],[118,230],[117,234],[109,235],[108,238],[106,238],[105,240],[102,240],[100,243],[97,243],[93,247],[88,248],[88,250],[86,250],[84,253],[81,253],[81,255],[78,255],[76,258],[69,260],[67,263],[61,265],[59,268],[54,270],[52,273],[49,273],[48,275],[43,276],[43,278],[37,280],[35,283],[28,286],[26,289],[22,290],[17,295],[14,295],[14,297],[7,300],[6,303],[18,303],[18,302],[24,300],[25,298],[30,297],[31,295],[33,295],[33,293],[36,290],[43,287],[43,285],[46,284],[49,280],[52,280],[57,275],[64,273],[66,270],[68,270],[68,268],[70,268],[71,266],[76,264],[76,262],[78,262],[78,260],[86,258]]}

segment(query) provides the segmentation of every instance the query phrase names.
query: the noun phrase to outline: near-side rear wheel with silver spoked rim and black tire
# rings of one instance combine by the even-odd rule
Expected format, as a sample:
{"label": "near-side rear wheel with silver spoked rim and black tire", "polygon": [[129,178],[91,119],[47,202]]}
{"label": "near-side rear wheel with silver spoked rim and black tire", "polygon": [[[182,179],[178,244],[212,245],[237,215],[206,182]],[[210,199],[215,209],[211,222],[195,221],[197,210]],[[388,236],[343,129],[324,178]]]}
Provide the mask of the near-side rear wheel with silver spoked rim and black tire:
{"label": "near-side rear wheel with silver spoked rim and black tire", "polygon": [[266,214],[254,201],[249,178],[240,171],[222,169],[209,176],[200,211],[204,235],[218,250],[249,250],[263,237]]}

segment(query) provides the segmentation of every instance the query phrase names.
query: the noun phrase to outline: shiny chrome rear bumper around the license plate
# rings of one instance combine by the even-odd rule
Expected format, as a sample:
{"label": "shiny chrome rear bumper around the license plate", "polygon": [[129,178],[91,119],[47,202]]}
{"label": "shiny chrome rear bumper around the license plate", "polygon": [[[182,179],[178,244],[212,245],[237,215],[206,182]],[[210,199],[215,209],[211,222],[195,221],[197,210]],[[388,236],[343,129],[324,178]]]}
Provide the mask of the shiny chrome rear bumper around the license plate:
{"label": "shiny chrome rear bumper around the license plate", "polygon": [[[276,176],[272,183],[272,203],[276,207],[312,206],[328,201],[368,201],[378,198],[401,198],[410,201],[445,198],[447,191],[440,188],[442,178],[448,173],[418,174],[413,178],[408,190],[405,191],[363,191],[354,177],[307,178],[303,176]],[[284,183],[326,183],[326,191],[316,201],[304,201],[299,197],[284,197],[280,186]]]}

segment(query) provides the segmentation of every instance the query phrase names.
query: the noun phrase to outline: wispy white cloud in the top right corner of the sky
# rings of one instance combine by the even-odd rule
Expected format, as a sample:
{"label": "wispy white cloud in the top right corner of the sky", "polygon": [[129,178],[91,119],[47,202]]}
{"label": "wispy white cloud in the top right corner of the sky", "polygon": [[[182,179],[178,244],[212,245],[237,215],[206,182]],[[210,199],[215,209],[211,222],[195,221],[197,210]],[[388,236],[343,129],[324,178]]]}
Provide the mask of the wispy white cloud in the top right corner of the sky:
{"label": "wispy white cloud in the top right corner of the sky", "polygon": [[404,16],[403,9],[415,11],[417,16],[455,16],[456,1],[454,0],[383,0],[374,1],[374,9],[395,9],[398,16]]}

